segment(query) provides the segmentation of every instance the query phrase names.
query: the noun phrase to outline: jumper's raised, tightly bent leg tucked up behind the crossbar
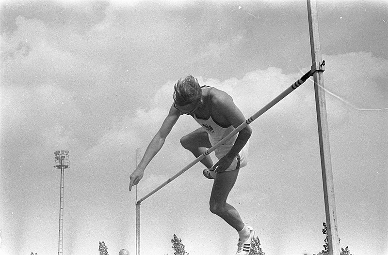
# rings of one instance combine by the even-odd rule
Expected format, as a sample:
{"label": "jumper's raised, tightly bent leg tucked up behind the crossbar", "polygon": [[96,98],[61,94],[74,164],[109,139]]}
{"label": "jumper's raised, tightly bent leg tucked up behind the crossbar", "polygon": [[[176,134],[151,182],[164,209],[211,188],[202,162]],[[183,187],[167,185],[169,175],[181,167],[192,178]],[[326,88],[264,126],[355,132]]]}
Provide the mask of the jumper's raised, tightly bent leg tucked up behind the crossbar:
{"label": "jumper's raised, tightly bent leg tucked up behind the crossbar", "polygon": [[[190,150],[197,158],[201,156],[206,150],[211,148],[209,141],[209,135],[203,128],[198,128],[193,132],[180,138],[180,144],[186,150]],[[213,166],[213,161],[210,156],[205,157],[201,160],[201,163],[206,167],[210,168]]]}

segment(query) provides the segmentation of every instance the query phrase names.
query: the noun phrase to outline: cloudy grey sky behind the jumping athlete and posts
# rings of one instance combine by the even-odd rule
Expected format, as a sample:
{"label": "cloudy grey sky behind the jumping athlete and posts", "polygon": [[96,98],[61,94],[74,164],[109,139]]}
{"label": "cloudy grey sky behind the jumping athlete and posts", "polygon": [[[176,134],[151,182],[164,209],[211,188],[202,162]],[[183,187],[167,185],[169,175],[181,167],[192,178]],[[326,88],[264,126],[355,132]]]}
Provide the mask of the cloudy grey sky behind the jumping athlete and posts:
{"label": "cloudy grey sky behind the jumping athlete and posts", "polygon": [[[388,3],[317,3],[340,246],[388,254]],[[0,254],[135,254],[129,174],[191,74],[249,118],[311,66],[307,3],[295,1],[2,1]],[[308,80],[251,124],[249,163],[229,202],[267,255],[323,249],[314,88]],[[141,181],[146,195],[194,160],[182,116]],[[213,155],[211,155],[214,157]],[[141,206],[142,254],[235,254],[235,230],[210,213],[195,165]]]}

